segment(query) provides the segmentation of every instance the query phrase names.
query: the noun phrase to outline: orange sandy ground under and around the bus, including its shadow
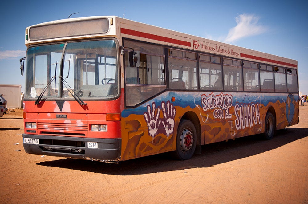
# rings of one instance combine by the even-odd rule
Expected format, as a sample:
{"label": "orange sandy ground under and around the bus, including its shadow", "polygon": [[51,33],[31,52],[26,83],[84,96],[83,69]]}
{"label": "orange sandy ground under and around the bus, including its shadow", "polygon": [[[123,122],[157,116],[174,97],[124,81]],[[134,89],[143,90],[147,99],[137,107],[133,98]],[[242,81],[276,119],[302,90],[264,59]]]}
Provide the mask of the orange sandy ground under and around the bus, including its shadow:
{"label": "orange sandy ground under and around the bus, including its shadow", "polygon": [[[107,164],[26,154],[22,110],[0,118],[0,203],[308,203],[308,105],[299,124],[202,147]],[[19,144],[16,144],[19,143]]]}

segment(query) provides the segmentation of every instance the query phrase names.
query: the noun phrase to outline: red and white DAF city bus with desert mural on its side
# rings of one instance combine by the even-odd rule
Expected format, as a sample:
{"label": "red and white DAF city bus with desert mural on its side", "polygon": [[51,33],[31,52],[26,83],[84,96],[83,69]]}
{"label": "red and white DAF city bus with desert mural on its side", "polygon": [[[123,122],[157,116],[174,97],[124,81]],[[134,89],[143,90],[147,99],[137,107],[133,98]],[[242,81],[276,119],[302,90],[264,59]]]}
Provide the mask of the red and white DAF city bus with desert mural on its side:
{"label": "red and white DAF city bus with desert mural on its side", "polygon": [[25,45],[30,154],[185,160],[299,121],[296,60],[116,16],[29,26]]}

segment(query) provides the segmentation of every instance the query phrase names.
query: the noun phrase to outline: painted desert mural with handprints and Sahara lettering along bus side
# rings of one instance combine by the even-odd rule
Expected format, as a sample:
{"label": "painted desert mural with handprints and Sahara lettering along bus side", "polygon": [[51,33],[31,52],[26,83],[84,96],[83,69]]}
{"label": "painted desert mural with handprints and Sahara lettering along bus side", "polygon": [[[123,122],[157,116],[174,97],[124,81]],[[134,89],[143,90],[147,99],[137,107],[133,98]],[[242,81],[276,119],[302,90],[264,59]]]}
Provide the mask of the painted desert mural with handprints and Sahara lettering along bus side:
{"label": "painted desert mural with handprints and Sahara lettering along bus side", "polygon": [[296,103],[292,94],[164,92],[125,112],[125,151],[129,157],[169,151],[174,147],[179,121],[187,113],[196,114],[200,122],[201,144],[262,133],[266,112],[271,107],[277,128],[281,129],[297,122]]}

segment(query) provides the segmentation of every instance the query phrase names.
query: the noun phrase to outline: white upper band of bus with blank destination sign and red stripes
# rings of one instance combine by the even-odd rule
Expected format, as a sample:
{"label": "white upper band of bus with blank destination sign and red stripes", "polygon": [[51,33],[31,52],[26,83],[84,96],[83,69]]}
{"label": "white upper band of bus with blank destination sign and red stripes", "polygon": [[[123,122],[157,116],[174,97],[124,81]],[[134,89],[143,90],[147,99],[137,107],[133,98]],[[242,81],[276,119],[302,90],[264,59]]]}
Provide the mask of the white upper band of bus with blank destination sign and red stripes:
{"label": "white upper band of bus with blank destination sign and red stripes", "polygon": [[[54,32],[56,30],[56,32]],[[297,69],[296,60],[209,40],[116,16],[69,18],[26,28],[26,46],[69,39],[121,37],[168,45],[191,51]],[[122,41],[119,40],[120,45]]]}

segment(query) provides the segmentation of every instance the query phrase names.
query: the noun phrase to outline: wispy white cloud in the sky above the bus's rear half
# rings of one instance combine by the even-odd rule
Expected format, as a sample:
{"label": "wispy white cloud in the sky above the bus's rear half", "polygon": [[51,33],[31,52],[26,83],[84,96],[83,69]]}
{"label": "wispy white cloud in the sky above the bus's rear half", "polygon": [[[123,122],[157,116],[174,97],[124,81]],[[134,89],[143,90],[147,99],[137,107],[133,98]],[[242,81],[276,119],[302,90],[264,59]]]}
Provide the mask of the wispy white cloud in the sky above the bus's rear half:
{"label": "wispy white cloud in the sky above the bus's rear half", "polygon": [[235,17],[236,26],[229,30],[225,38],[226,43],[235,42],[243,37],[258,35],[267,31],[267,28],[258,25],[259,17],[253,14],[241,14]]}

